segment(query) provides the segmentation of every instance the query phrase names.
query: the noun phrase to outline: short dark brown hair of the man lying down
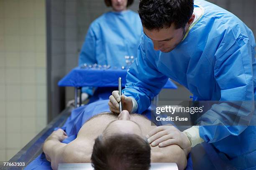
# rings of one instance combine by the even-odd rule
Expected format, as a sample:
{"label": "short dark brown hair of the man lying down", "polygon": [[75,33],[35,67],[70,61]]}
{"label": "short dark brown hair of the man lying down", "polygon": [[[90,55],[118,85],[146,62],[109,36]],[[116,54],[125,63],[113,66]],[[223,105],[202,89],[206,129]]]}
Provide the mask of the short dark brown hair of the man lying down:
{"label": "short dark brown hair of the man lying down", "polygon": [[136,134],[100,135],[92,150],[95,170],[149,170],[151,148]]}

